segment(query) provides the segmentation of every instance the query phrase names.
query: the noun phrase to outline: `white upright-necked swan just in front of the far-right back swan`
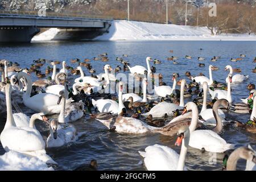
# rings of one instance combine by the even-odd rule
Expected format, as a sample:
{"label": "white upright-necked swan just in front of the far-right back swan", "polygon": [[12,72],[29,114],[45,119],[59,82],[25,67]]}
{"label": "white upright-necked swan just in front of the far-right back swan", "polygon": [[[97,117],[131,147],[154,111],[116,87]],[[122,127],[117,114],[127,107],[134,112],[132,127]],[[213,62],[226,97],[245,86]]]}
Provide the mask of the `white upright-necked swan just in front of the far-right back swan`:
{"label": "white upright-necked swan just in front of the far-right back swan", "polygon": [[231,96],[231,83],[233,81],[233,77],[231,74],[228,75],[228,91],[226,90],[210,90],[209,93],[210,96],[212,96],[212,99],[217,97],[218,99],[225,98],[226,100],[229,101],[229,103],[232,103],[232,96]]}

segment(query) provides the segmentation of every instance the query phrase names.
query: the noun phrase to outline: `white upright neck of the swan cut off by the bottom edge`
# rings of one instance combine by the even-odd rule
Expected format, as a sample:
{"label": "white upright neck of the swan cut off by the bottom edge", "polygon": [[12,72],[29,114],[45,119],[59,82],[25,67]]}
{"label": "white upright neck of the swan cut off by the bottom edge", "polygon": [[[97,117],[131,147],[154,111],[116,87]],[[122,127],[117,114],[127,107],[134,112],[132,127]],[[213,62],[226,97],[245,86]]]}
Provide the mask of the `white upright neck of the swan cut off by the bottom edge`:
{"label": "white upright neck of the swan cut off by the bottom edge", "polygon": [[183,138],[182,144],[181,144],[180,157],[179,157],[179,162],[177,164],[177,171],[184,170],[185,158],[186,158],[187,151],[188,151],[189,138],[190,138],[190,132],[189,132],[189,130],[187,130],[185,132],[185,137]]}

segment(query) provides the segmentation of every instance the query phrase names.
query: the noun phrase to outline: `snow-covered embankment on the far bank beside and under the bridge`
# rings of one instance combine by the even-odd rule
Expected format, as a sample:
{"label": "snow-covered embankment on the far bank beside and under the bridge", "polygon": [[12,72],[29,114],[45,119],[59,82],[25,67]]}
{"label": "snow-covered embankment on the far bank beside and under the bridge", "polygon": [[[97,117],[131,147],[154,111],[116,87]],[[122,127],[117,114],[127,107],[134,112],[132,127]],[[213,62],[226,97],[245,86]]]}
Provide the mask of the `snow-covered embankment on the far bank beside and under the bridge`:
{"label": "snow-covered embankment on the far bank beside and under the bridge", "polygon": [[[34,36],[32,41],[52,40],[58,32],[57,28],[50,28]],[[245,34],[212,36],[207,27],[114,20],[109,32],[94,40],[256,40],[256,36]]]}

